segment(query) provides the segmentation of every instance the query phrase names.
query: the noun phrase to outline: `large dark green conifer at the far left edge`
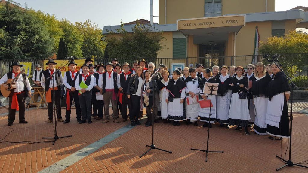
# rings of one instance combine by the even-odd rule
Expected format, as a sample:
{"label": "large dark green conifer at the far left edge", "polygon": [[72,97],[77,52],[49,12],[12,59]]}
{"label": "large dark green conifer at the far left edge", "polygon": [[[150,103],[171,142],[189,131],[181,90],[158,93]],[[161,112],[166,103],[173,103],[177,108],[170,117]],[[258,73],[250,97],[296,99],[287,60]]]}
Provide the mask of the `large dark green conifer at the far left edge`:
{"label": "large dark green conifer at the far left edge", "polygon": [[0,59],[48,58],[53,40],[43,21],[10,1],[1,6]]}

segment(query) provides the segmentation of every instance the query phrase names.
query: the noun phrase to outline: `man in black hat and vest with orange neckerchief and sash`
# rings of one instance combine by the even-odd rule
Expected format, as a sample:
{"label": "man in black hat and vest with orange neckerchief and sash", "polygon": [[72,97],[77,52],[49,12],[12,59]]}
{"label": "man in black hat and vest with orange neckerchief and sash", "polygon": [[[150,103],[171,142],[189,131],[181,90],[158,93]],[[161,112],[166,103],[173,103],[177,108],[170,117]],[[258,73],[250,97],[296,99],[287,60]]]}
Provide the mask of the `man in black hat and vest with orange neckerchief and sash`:
{"label": "man in black hat and vest with orange neckerchief and sash", "polygon": [[[63,85],[63,78],[61,71],[57,71],[55,69],[57,63],[53,59],[49,59],[46,63],[46,66],[48,66],[48,70],[45,70],[42,75],[41,84],[42,87],[46,91],[46,102],[48,103],[48,121],[47,123],[51,123],[53,119],[53,100],[55,99],[55,104],[57,108],[57,118],[59,122],[63,122],[62,116],[61,116],[61,88]],[[54,77],[51,75],[55,74]],[[52,81],[51,81],[52,80]],[[55,93],[55,98],[54,98]]]}

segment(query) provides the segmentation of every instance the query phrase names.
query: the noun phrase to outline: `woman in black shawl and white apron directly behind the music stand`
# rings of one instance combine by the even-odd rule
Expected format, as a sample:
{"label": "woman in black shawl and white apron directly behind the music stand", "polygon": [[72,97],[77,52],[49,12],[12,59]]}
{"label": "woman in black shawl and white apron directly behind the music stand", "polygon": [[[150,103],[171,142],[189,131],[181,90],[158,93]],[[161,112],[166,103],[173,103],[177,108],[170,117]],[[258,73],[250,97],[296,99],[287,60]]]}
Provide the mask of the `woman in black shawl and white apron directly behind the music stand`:
{"label": "woman in black shawl and white apron directly behind the music stand", "polygon": [[[204,69],[203,71],[203,76],[204,78],[202,78],[201,82],[200,82],[200,93],[203,93],[203,89],[204,86],[206,86],[206,83],[216,83],[215,78],[213,77],[213,73],[210,69]],[[209,90],[209,87],[205,87],[206,90]],[[199,97],[199,102],[202,100],[210,100],[211,99],[211,95],[207,95],[207,94],[200,94],[201,97]],[[215,123],[215,119],[216,119],[216,97],[215,95],[212,95],[212,107],[211,107],[211,119],[209,119],[209,113],[210,113],[210,107],[202,107],[199,104],[199,111],[198,111],[198,116],[200,118],[200,121],[205,122],[202,127],[208,127],[209,126],[209,122],[210,122],[210,127],[212,127],[212,123]]]}

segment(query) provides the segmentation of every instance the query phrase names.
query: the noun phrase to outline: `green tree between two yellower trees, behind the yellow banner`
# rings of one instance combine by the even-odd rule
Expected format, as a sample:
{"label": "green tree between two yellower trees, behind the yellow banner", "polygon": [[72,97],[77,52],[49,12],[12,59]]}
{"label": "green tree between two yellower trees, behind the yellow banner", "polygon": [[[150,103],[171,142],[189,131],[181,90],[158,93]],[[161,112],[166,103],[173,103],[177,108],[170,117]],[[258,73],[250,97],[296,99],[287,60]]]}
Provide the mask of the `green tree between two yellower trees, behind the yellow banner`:
{"label": "green tree between two yellower trees, behind the yellow banner", "polygon": [[60,20],[60,27],[64,33],[64,42],[67,44],[67,55],[83,58],[81,50],[83,35],[80,33],[78,28],[66,19]]}

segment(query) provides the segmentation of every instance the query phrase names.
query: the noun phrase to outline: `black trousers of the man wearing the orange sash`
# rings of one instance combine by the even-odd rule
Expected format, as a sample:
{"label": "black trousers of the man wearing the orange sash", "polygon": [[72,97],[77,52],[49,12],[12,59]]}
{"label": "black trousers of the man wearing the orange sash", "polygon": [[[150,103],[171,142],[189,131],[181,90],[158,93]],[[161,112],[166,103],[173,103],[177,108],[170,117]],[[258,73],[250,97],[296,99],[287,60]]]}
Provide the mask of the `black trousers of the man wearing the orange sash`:
{"label": "black trousers of the man wearing the orange sash", "polygon": [[58,119],[62,119],[62,115],[61,115],[61,104],[60,104],[60,101],[61,101],[61,97],[62,97],[62,94],[61,94],[61,91],[60,90],[50,90],[51,91],[51,103],[48,103],[48,119],[49,120],[52,120],[53,119],[53,100],[54,100],[54,92],[55,92],[55,104],[56,104],[56,114],[57,114],[57,118]]}

